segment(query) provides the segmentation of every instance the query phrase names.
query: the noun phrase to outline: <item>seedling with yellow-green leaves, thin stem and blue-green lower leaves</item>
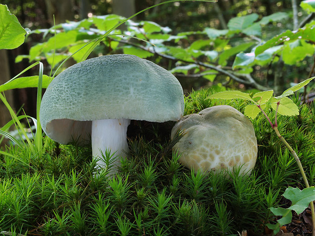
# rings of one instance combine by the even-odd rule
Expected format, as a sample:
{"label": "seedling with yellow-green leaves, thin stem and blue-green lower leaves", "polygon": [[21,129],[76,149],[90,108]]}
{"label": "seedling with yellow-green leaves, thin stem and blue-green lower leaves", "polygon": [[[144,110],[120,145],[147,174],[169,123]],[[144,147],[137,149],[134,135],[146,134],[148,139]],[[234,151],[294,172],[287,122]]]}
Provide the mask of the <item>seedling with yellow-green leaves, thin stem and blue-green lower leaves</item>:
{"label": "seedling with yellow-green leaves, thin stem and blue-green lower leaves", "polygon": [[[280,141],[286,146],[286,148],[290,151],[291,155],[294,157],[299,170],[301,172],[304,184],[306,186],[306,189],[302,190],[302,193],[300,194],[290,194],[288,192],[294,192],[299,191],[298,190],[292,190],[291,188],[288,188],[283,194],[283,196],[287,197],[288,199],[292,200],[292,206],[289,209],[283,209],[283,208],[271,208],[270,210],[275,215],[282,216],[281,219],[278,220],[278,223],[276,225],[268,224],[268,227],[274,230],[274,233],[277,233],[279,231],[279,227],[288,224],[292,221],[292,213],[291,210],[295,210],[298,214],[303,212],[307,206],[310,206],[311,209],[311,215],[312,215],[312,235],[315,235],[315,212],[314,212],[314,204],[313,200],[315,200],[315,190],[314,187],[310,187],[308,180],[306,178],[303,166],[301,164],[301,161],[294,151],[294,149],[289,145],[289,143],[281,136],[279,130],[278,130],[278,123],[277,123],[277,115],[284,115],[284,116],[295,116],[299,114],[299,109],[296,106],[296,104],[288,97],[292,94],[294,94],[295,91],[298,91],[299,89],[303,88],[305,85],[307,85],[311,80],[313,80],[315,77],[309,78],[289,89],[284,91],[280,96],[273,97],[273,90],[269,91],[263,91],[263,92],[257,92],[253,96],[250,96],[248,93],[244,93],[241,91],[224,91],[224,92],[218,92],[215,93],[209,98],[219,98],[219,99],[243,99],[248,100],[249,102],[253,104],[249,104],[244,108],[244,114],[248,116],[251,119],[255,119],[257,115],[262,112],[263,115],[268,120],[270,126],[277,134],[277,137],[280,139]],[[265,110],[271,106],[271,108],[275,111],[275,120],[274,123],[270,120],[268,115],[266,114]],[[310,190],[308,190],[310,189]],[[307,193],[305,193],[307,192]],[[309,194],[310,192],[310,194]],[[309,196],[308,196],[308,195]],[[307,195],[307,196],[306,196]],[[306,201],[306,205],[305,205]],[[303,202],[302,205],[303,209],[300,207],[299,210],[296,210],[295,203],[296,202]],[[302,210],[301,210],[302,209]]]}

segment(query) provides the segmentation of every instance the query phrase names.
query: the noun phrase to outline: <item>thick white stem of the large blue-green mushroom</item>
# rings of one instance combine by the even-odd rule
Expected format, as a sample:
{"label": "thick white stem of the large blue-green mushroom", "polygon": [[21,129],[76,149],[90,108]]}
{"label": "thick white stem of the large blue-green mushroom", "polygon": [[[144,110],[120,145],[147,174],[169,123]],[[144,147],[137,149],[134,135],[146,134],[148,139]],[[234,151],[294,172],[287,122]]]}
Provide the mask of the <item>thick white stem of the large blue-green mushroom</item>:
{"label": "thick white stem of the large blue-green mushroom", "polygon": [[130,124],[129,119],[106,119],[92,121],[92,155],[94,158],[101,158],[97,163],[100,167],[106,168],[106,163],[102,160],[102,153],[105,156],[105,150],[110,150],[114,169],[120,165],[120,158],[125,157],[129,151],[127,143],[127,128]]}

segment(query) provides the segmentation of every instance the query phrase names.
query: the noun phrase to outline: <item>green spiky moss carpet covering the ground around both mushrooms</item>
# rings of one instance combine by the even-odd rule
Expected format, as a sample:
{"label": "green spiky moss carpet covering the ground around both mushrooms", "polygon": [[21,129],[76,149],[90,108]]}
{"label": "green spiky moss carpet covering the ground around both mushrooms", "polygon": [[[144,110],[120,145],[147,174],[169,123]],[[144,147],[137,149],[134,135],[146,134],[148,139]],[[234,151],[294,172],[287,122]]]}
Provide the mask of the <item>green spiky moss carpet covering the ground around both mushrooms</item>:
{"label": "green spiky moss carpet covering the ground around both mushrooms", "polygon": [[[215,105],[242,112],[246,102],[207,99],[211,90],[185,98],[185,115]],[[297,151],[310,184],[315,182],[315,109],[278,117],[279,131]],[[270,118],[274,113],[270,110]],[[263,116],[252,120],[259,145],[253,173],[202,174],[184,168],[172,153],[172,122],[134,122],[130,156],[108,178],[91,148],[58,145],[44,138],[47,152],[30,155],[10,146],[0,154],[0,231],[40,235],[238,235],[263,233],[270,207],[282,204],[298,168]],[[229,175],[229,178],[226,178]]]}

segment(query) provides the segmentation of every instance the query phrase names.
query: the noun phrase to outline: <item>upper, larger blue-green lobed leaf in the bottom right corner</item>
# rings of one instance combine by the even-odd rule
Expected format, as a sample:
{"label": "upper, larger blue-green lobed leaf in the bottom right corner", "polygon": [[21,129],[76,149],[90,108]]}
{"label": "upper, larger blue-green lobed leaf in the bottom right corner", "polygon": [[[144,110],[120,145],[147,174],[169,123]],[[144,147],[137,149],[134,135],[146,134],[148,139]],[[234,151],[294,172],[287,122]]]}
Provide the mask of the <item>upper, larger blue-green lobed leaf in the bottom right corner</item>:
{"label": "upper, larger blue-green lobed leaf in the bottom right corner", "polygon": [[315,187],[312,186],[302,190],[289,187],[282,195],[292,202],[291,207],[288,209],[294,210],[297,214],[301,214],[311,201],[315,201]]}

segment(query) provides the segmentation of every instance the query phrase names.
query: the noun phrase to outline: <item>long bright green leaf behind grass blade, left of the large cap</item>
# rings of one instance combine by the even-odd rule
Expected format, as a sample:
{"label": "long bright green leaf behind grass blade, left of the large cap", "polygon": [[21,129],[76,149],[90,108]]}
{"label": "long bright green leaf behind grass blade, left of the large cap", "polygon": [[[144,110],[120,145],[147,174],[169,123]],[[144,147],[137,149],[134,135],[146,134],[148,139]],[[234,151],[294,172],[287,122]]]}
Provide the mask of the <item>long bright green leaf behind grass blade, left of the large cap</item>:
{"label": "long bright green leaf behind grass blade, left of the large cap", "polygon": [[[0,92],[14,89],[14,88],[30,88],[38,86],[39,76],[28,76],[28,77],[19,77],[14,80],[10,80],[7,83],[0,85]],[[50,83],[51,78],[49,76],[43,75],[43,88],[47,88]]]}

